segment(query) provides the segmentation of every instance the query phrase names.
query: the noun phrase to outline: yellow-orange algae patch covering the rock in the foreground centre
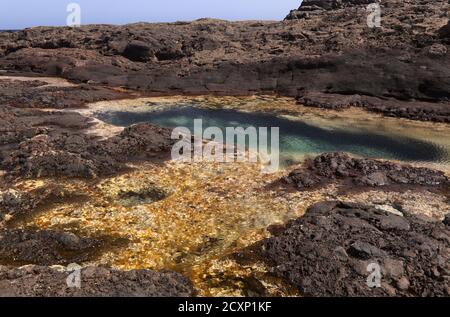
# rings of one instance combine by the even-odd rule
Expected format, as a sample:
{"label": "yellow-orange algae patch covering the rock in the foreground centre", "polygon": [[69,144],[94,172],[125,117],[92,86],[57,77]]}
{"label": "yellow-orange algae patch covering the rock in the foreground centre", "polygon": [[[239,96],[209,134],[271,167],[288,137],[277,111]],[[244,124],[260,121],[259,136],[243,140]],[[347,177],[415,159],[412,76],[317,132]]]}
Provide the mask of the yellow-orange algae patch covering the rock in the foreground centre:
{"label": "yellow-orange algae patch covering the rock in the foreground centre", "polygon": [[[125,270],[180,271],[192,278],[199,294],[214,295],[216,288],[210,285],[213,280],[203,280],[209,280],[212,273],[204,275],[200,273],[202,270],[214,268],[217,278],[225,279],[236,276],[241,269],[254,274],[251,268],[237,269],[240,266],[236,263],[230,266],[220,263],[231,263],[223,258],[268,237],[268,226],[302,215],[306,206],[323,198],[325,193],[269,190],[266,187],[278,179],[281,172],[262,174],[255,163],[169,161],[134,167],[132,172],[96,183],[67,180],[66,189],[76,191],[78,188],[89,200],[83,204],[64,201],[52,204],[23,226],[73,227],[86,235],[127,238],[126,246],[102,254],[91,264]],[[40,182],[48,184],[51,180]],[[60,185],[63,183],[59,181]],[[154,184],[170,194],[160,201],[132,207],[116,200],[121,191],[137,191]],[[219,274],[220,270],[223,272]],[[244,295],[245,285],[224,284],[228,289],[218,287],[217,294]]]}

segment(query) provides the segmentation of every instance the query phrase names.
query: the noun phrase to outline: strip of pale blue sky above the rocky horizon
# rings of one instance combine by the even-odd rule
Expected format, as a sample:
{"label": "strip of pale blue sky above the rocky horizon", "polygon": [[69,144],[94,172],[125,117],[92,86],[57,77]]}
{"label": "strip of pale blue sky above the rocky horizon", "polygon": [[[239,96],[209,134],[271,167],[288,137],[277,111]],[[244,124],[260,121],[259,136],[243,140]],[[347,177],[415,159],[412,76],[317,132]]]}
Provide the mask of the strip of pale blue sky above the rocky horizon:
{"label": "strip of pale blue sky above the rocky horizon", "polygon": [[1,0],[0,29],[65,25],[69,3],[80,4],[82,24],[226,20],[282,20],[301,0]]}

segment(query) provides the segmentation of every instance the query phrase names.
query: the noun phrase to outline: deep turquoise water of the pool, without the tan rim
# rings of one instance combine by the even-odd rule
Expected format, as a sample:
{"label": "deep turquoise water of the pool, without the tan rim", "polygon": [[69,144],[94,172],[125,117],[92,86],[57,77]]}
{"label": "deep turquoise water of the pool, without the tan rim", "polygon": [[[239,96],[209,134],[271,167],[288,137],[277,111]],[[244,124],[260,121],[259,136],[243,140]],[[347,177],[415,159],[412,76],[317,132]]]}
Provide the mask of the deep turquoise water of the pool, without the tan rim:
{"label": "deep turquoise water of the pool, without the tan rim", "polygon": [[188,127],[191,131],[194,119],[202,119],[204,129],[209,126],[219,127],[224,135],[225,127],[279,127],[280,159],[283,165],[296,163],[300,157],[308,154],[332,151],[408,162],[450,162],[450,149],[430,140],[400,137],[395,134],[387,136],[386,133],[372,133],[363,129],[359,131],[354,128],[330,130],[272,114],[187,106],[151,112],[104,112],[97,114],[97,117],[118,126],[151,122],[168,128]]}

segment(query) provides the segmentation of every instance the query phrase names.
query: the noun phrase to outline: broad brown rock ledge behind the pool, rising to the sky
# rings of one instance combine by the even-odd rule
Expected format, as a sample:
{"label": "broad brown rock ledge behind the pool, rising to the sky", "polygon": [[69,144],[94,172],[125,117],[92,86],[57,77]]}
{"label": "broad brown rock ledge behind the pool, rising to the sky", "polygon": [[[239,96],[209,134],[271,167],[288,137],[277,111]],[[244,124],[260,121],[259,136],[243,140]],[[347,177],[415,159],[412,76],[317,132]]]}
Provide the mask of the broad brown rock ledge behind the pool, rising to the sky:
{"label": "broad brown rock ledge behind the pool, rising to the sky", "polygon": [[[344,103],[348,96],[370,97],[363,107],[391,116],[448,122],[448,0],[382,1],[379,28],[367,25],[369,2],[305,0],[281,22],[202,19],[3,32],[0,68],[84,84],[78,92],[39,93],[56,107],[76,103],[73,96],[115,97],[102,86],[159,95],[275,93],[311,101],[306,104],[332,94]],[[33,105],[33,96],[24,97],[23,104]],[[22,106],[14,98],[2,99]]]}

